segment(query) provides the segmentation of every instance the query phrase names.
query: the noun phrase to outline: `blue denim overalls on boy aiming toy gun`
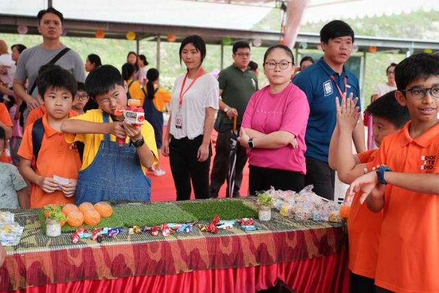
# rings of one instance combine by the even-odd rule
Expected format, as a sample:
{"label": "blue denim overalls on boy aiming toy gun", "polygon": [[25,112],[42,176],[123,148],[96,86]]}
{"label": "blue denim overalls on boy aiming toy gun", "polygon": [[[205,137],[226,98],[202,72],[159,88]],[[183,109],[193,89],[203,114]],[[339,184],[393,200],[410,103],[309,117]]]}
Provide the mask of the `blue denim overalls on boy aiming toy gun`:
{"label": "blue denim overalls on boy aiming toy gun", "polygon": [[[108,114],[104,113],[104,121]],[[143,174],[133,145],[119,145],[110,136],[101,141],[93,162],[78,174],[75,203],[142,200],[150,201],[151,180]]]}

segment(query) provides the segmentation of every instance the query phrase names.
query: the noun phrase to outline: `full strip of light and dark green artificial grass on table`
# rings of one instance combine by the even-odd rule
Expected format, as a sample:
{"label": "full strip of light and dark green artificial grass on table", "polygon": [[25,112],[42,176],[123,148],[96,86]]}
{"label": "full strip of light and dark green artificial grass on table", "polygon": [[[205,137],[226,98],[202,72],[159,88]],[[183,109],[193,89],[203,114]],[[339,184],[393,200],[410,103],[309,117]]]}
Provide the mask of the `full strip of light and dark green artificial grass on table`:
{"label": "full strip of light and dark green artificial grass on table", "polygon": [[[123,204],[112,208],[110,218],[101,218],[97,226],[81,226],[89,231],[94,228],[119,228],[132,226],[154,226],[163,223],[181,223],[195,220],[212,220],[219,215],[221,220],[256,218],[257,211],[246,206],[241,200],[206,200],[201,202],[154,202],[150,204]],[[44,211],[38,211],[38,220],[46,231]],[[78,227],[65,224],[64,233],[76,231]]]}

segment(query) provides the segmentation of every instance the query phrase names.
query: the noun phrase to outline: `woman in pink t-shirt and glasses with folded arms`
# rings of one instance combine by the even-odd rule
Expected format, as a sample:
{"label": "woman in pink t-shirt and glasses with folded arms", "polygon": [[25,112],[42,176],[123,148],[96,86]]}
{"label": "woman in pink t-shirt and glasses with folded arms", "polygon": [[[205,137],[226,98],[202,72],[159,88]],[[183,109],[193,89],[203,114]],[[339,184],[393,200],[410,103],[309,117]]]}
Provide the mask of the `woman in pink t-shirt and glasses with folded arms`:
{"label": "woman in pink t-shirt and glasses with folded arms", "polygon": [[294,56],[285,45],[270,47],[263,57],[270,85],[250,98],[241,124],[239,143],[247,148],[249,189],[300,191],[305,186],[305,130],[309,104],[292,84]]}

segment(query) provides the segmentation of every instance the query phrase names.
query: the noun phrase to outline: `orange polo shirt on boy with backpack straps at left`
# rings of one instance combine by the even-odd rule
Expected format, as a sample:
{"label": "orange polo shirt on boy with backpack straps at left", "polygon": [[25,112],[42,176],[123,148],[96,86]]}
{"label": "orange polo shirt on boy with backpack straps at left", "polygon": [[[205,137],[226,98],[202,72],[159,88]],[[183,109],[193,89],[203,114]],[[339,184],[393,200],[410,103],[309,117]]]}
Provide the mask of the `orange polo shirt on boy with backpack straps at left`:
{"label": "orange polo shirt on boy with backpack straps at left", "polygon": [[[69,117],[76,116],[70,113]],[[19,156],[23,159],[32,161],[34,152],[32,149],[32,128],[29,125],[23,133],[23,140],[19,148]],[[67,143],[64,139],[64,132],[56,131],[47,122],[47,114],[43,115],[43,127],[45,130],[43,141],[41,142],[38,160],[36,161],[36,174],[44,177],[53,178],[54,175],[77,179],[81,167],[81,160],[78,150],[73,143]],[[54,191],[46,194],[38,185],[32,186],[30,194],[30,207],[44,207],[46,204],[75,202],[75,198],[67,198],[62,191]]]}

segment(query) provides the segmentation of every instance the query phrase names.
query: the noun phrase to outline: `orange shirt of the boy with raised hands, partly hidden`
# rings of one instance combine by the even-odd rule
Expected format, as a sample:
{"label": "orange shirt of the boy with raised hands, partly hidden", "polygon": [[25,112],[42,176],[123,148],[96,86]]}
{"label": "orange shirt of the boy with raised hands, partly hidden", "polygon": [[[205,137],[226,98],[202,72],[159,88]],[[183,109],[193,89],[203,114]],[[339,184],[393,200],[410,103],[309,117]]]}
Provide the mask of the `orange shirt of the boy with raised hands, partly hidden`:
{"label": "orange shirt of the boy with raised hands, partly hidden", "polygon": [[[372,162],[378,149],[357,154],[361,163]],[[366,204],[359,203],[360,193],[355,194],[348,218],[349,269],[354,274],[375,279],[379,248],[379,235],[383,213],[373,213]]]}

